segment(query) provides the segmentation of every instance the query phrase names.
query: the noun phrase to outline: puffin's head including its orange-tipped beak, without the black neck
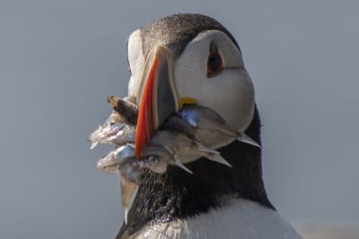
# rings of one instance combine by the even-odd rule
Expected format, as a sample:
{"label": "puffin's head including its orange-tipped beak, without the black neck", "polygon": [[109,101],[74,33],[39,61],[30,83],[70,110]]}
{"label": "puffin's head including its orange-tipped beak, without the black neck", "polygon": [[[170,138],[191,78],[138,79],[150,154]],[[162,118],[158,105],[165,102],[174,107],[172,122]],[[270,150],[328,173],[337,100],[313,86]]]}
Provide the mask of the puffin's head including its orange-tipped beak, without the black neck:
{"label": "puffin's head including its orange-tipped beak, without the black neck", "polygon": [[[130,35],[127,54],[128,95],[139,107],[137,151],[183,104],[212,108],[241,132],[250,125],[253,84],[238,44],[217,21],[179,14],[152,22]],[[232,141],[218,132],[199,134],[212,148]]]}

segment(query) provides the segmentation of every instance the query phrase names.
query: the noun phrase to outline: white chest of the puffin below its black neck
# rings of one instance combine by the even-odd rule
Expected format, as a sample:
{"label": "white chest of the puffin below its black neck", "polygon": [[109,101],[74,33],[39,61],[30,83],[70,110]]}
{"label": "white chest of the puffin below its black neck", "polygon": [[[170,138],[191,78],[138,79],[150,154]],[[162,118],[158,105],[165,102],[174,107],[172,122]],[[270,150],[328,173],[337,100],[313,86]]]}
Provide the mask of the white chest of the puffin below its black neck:
{"label": "white chest of the puffin below its black neck", "polygon": [[153,223],[135,238],[302,238],[272,209],[235,201],[194,218]]}

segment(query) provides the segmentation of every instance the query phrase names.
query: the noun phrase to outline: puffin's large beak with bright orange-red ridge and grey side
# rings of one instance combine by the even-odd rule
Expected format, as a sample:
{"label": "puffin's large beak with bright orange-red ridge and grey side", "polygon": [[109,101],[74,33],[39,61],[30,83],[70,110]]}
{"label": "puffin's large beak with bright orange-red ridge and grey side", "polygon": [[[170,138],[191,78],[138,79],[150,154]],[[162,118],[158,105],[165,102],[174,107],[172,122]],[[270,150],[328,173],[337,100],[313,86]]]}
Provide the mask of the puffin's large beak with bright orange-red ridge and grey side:
{"label": "puffin's large beak with bright orange-red ridge and grey side", "polygon": [[146,143],[164,120],[180,109],[173,79],[172,55],[165,47],[153,47],[144,63],[144,74],[136,92],[138,118],[135,156],[139,158]]}

